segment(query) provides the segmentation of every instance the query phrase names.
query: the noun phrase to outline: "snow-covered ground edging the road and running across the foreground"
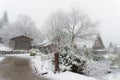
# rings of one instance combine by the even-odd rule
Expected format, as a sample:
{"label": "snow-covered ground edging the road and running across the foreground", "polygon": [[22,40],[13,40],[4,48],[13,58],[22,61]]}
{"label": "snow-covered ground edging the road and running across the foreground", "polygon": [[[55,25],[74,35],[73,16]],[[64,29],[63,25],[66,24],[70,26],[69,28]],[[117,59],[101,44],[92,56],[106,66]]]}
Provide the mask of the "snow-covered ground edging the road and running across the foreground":
{"label": "snow-covered ground edging the road and running across the foreground", "polygon": [[[18,54],[18,55],[7,55],[7,56],[17,56],[17,57],[27,57],[30,58],[33,68],[36,68],[37,75],[46,73],[45,77],[52,78],[52,80],[120,80],[120,72],[110,73],[99,77],[98,79],[94,77],[88,77],[80,75],[73,72],[60,72],[54,74],[54,65],[51,63],[51,57],[49,55],[39,55],[39,56],[29,56],[29,54]],[[0,60],[4,57],[0,57]]]}

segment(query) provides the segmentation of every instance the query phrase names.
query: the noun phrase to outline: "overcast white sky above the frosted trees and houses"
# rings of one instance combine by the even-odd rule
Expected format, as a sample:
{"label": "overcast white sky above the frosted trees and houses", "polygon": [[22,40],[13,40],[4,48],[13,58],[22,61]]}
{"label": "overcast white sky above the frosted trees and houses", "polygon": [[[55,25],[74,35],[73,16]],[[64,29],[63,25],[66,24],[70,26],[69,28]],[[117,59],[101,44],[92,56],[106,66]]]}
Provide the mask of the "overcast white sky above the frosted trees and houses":
{"label": "overcast white sky above the frosted trees and houses", "polygon": [[74,5],[80,6],[92,20],[102,21],[98,30],[106,45],[120,44],[120,0],[0,0],[0,17],[7,10],[13,22],[18,14],[26,14],[41,28],[51,12]]}

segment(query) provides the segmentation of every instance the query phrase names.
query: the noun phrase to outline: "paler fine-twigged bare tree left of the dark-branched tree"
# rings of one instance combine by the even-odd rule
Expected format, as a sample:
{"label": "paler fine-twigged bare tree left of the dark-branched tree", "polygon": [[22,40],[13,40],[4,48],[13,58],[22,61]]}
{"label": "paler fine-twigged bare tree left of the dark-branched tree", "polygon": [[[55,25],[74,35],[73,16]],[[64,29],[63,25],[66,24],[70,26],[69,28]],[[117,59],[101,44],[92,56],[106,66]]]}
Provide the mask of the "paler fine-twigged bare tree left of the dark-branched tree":
{"label": "paler fine-twigged bare tree left of the dark-branched tree", "polygon": [[65,41],[66,31],[64,26],[66,24],[67,17],[64,11],[57,11],[52,13],[45,21],[45,34],[46,37],[58,48],[63,41]]}

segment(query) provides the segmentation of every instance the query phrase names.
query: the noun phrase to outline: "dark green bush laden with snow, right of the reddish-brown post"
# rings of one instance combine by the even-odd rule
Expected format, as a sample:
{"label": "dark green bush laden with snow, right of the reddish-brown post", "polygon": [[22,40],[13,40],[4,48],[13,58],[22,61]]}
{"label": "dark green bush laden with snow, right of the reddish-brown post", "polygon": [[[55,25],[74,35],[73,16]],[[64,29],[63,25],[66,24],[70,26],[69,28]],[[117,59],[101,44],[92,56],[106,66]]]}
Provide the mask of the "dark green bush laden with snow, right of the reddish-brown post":
{"label": "dark green bush laden with snow, right of the reddish-brown post", "polygon": [[59,54],[60,57],[60,68],[62,71],[72,71],[75,73],[84,74],[84,68],[86,60],[82,54],[77,54],[76,50],[65,47],[64,50]]}

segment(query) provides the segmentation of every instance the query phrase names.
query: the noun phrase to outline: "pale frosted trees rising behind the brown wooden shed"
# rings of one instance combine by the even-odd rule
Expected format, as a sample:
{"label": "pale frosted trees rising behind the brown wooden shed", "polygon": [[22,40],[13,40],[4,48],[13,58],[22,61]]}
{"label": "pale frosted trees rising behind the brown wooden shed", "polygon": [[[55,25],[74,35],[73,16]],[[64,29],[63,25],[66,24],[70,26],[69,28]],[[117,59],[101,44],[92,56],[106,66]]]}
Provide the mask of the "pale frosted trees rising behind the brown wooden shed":
{"label": "pale frosted trees rising behind the brown wooden shed", "polygon": [[33,38],[33,43],[41,41],[43,37],[34,21],[26,15],[19,15],[14,23],[2,27],[1,35],[6,44],[8,44],[10,38],[20,35]]}

